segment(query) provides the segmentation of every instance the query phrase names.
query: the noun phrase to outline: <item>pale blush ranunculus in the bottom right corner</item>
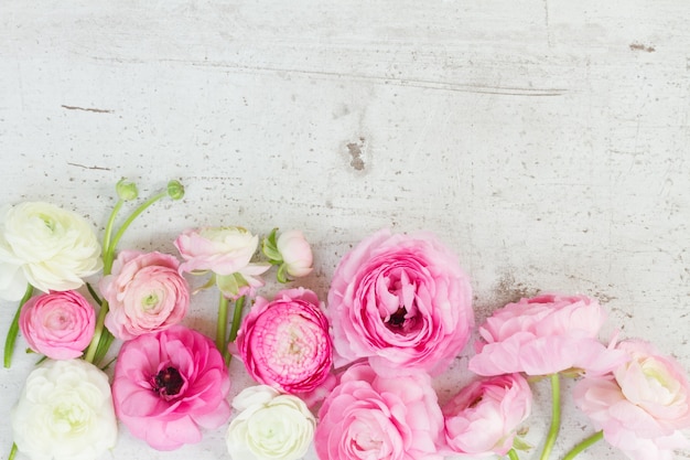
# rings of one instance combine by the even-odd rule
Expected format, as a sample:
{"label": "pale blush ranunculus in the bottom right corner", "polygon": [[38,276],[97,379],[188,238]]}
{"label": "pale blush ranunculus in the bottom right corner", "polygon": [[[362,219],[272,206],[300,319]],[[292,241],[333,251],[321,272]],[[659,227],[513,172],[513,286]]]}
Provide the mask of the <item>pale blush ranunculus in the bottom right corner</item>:
{"label": "pale blush ranunculus in the bottom right corner", "polygon": [[604,439],[633,460],[672,460],[690,447],[690,384],[683,368],[642,340],[616,345],[630,361],[611,374],[581,379],[575,404]]}

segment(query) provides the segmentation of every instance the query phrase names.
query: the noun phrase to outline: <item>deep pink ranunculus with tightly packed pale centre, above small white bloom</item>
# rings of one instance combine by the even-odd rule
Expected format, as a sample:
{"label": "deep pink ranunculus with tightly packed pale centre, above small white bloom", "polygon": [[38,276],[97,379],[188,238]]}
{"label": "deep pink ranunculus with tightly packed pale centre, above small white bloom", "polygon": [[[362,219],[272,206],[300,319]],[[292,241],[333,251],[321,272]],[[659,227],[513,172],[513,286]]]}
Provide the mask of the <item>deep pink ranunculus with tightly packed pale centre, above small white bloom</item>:
{"label": "deep pink ranunculus with tightly packed pale centre, above small white bloom", "polygon": [[328,320],[304,288],[280,291],[272,301],[257,297],[236,346],[251,377],[283,393],[317,389],[333,365]]}

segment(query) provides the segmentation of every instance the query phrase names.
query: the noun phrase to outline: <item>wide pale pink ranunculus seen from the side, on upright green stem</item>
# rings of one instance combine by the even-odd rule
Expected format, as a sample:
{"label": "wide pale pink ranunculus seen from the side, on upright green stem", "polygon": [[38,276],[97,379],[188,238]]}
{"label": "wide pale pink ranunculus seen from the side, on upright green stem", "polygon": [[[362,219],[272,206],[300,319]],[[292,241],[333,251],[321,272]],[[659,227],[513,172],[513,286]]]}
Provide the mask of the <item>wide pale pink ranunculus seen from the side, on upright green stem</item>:
{"label": "wide pale pink ranunculus seen from the side, on upright green stem", "polygon": [[548,375],[574,368],[604,374],[626,360],[597,340],[605,319],[599,302],[585,296],[541,295],[508,303],[479,328],[483,341],[470,371]]}

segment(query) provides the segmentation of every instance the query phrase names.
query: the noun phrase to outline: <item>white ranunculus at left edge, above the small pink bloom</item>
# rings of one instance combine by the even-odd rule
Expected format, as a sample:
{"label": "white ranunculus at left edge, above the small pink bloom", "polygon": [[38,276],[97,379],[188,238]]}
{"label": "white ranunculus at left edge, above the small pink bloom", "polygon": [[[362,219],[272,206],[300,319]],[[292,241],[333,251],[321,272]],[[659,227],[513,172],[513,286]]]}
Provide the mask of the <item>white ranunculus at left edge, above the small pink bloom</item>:
{"label": "white ranunculus at left edge, above the small pink bloom", "polygon": [[96,234],[80,215],[44,202],[0,213],[0,298],[19,300],[28,284],[44,292],[76,289],[101,267]]}

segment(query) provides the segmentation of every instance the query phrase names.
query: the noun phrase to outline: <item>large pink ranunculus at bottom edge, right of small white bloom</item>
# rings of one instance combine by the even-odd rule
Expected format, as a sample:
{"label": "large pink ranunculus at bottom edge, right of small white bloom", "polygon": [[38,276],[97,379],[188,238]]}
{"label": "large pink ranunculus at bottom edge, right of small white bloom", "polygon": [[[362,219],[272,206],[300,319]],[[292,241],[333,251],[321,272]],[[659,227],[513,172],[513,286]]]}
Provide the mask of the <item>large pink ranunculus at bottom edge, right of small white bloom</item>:
{"label": "large pink ranunculus at bottom edge, right of small white bloom", "polygon": [[431,377],[382,377],[357,363],[319,410],[314,447],[321,460],[442,460],[443,415]]}

